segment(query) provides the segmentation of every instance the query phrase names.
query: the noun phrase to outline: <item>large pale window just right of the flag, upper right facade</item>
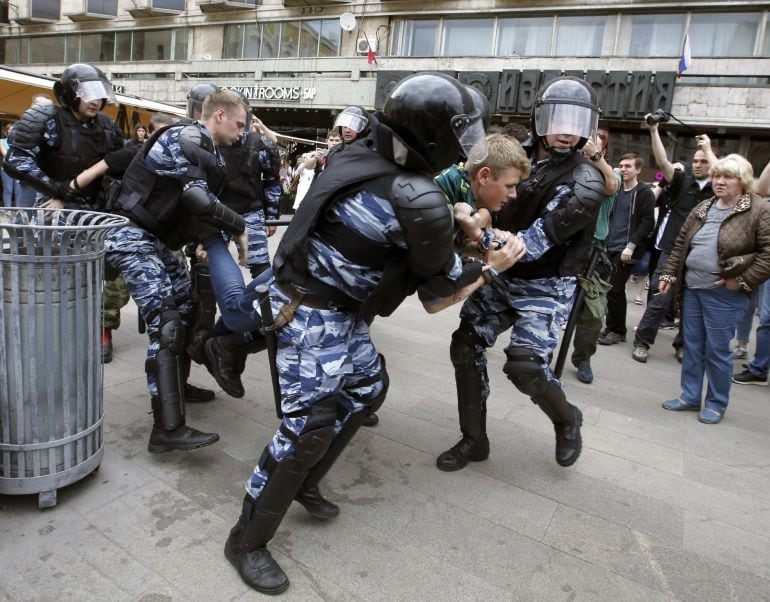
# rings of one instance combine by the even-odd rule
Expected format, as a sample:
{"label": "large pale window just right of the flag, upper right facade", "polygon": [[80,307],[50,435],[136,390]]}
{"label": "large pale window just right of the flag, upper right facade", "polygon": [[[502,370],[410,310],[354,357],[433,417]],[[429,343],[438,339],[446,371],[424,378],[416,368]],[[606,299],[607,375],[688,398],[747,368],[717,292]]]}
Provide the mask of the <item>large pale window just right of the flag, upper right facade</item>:
{"label": "large pale window just right of the flag, upper right facade", "polygon": [[757,38],[757,13],[695,14],[690,21],[693,56],[751,56]]}

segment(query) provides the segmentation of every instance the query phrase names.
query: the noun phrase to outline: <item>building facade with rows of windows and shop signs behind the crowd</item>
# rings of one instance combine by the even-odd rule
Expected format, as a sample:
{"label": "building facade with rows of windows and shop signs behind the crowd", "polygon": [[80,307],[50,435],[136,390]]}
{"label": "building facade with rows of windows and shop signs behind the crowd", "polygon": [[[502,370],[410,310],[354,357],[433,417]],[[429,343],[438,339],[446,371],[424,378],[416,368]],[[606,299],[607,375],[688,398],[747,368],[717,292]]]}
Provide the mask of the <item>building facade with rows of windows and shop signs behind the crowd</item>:
{"label": "building facade with rows of windows and shop signs behind the crowd", "polygon": [[[672,158],[705,132],[761,169],[769,14],[751,0],[14,0],[0,2],[0,62],[52,76],[91,62],[120,91],[175,105],[201,81],[233,87],[270,126],[305,136],[424,70],[481,89],[496,127],[526,124],[537,87],[564,73],[597,90],[613,160],[651,158],[642,117],[664,108]],[[692,65],[678,78],[685,34]]]}

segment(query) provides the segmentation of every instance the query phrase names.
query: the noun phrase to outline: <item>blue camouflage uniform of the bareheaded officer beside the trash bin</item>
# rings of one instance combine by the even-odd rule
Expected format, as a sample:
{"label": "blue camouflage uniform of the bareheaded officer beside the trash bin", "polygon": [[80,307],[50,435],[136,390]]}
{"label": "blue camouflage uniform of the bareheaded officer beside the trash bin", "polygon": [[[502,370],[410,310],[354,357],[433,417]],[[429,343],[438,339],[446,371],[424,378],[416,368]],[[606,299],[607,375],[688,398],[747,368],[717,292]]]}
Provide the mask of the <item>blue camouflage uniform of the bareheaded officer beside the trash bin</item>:
{"label": "blue camouflage uniform of the bareheaded officer beside the trash bin", "polygon": [[[204,125],[197,125],[202,135],[210,137]],[[187,174],[190,161],[179,144],[180,132],[181,128],[164,132],[148,151],[145,163],[158,176],[181,178]],[[218,153],[216,156],[218,163],[223,165]],[[208,191],[203,179],[188,182],[185,185],[187,187],[200,187]],[[213,194],[208,194],[216,201]],[[160,310],[164,302],[173,301],[185,328],[190,326],[194,303],[187,267],[163,241],[133,222],[110,230],[105,237],[105,250],[107,261],[120,270],[147,324],[150,337],[147,359],[153,360],[159,349]],[[151,397],[158,396],[156,377],[152,371],[147,374],[147,388]]]}

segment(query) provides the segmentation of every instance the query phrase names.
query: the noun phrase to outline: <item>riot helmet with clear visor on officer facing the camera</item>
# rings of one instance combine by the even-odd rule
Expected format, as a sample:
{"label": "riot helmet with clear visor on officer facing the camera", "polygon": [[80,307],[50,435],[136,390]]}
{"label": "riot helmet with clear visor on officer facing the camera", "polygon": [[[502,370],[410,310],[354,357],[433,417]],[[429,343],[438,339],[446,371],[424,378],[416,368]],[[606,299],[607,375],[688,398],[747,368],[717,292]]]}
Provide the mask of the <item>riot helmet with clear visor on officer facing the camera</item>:
{"label": "riot helmet with clear visor on officer facing the camera", "polygon": [[541,86],[532,109],[531,128],[535,140],[551,134],[578,136],[580,141],[571,149],[546,149],[551,153],[566,154],[583,148],[593,137],[599,125],[601,109],[596,93],[585,80],[577,77],[557,77]]}

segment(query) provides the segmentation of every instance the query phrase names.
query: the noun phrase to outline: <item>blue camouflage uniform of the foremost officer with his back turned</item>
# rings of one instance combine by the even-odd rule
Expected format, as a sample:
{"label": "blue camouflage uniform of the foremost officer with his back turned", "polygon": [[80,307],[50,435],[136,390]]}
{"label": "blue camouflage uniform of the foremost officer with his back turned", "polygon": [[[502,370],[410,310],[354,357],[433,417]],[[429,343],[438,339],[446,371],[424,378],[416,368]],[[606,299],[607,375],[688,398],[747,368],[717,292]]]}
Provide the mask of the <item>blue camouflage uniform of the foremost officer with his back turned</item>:
{"label": "blue camouflage uniform of the foremost officer with his back turned", "polygon": [[[370,239],[373,244],[406,249],[401,225],[390,201],[361,191],[337,202],[331,209],[351,230]],[[356,300],[364,300],[379,282],[382,271],[356,265],[316,235],[308,240],[310,272],[322,282]],[[456,280],[462,271],[459,257],[447,276]],[[290,299],[273,283],[270,291],[273,314]],[[280,375],[282,410],[281,427],[267,447],[276,462],[294,452],[294,437],[307,420],[307,408],[331,396],[338,400],[335,435],[354,413],[368,409],[384,392],[380,375],[383,363],[372,343],[369,327],[356,313],[333,304],[328,309],[300,305],[294,319],[278,331],[276,363]],[[303,414],[292,416],[292,414]],[[246,483],[246,490],[258,498],[271,472],[267,458],[260,463]]]}

